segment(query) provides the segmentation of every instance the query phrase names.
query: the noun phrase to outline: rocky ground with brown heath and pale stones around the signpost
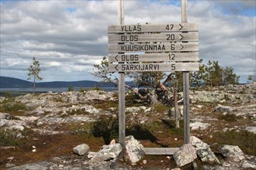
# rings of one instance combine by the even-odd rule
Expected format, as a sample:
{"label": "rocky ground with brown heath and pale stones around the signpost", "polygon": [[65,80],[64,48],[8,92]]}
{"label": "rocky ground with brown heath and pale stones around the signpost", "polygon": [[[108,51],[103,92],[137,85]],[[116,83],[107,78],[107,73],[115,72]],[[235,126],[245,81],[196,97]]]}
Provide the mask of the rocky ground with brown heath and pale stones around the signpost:
{"label": "rocky ground with brown heath and pale stones around the signpost", "polygon": [[[191,141],[199,140],[191,146],[183,145],[182,105],[177,129],[171,106],[150,106],[127,93],[126,136],[145,148],[192,149],[199,169],[256,169],[255,87],[191,90]],[[1,169],[110,169],[109,159],[119,154],[93,155],[118,145],[109,145],[118,141],[118,93],[49,92],[0,97],[0,102]],[[81,144],[88,147],[85,153],[74,153]],[[178,158],[144,155],[140,161],[118,161],[116,169],[192,169],[192,163],[183,165]]]}

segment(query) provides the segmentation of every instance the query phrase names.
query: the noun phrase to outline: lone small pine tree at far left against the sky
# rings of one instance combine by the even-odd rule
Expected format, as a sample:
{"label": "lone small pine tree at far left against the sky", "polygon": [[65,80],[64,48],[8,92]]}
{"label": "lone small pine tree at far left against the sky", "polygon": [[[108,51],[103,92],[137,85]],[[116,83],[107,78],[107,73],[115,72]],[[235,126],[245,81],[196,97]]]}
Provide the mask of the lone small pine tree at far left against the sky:
{"label": "lone small pine tree at far left against the sky", "polygon": [[28,80],[31,80],[31,78],[33,78],[33,93],[35,93],[36,80],[43,80],[43,78],[39,76],[39,73],[41,72],[40,63],[36,60],[35,57],[33,57],[33,65],[30,65],[28,70]]}

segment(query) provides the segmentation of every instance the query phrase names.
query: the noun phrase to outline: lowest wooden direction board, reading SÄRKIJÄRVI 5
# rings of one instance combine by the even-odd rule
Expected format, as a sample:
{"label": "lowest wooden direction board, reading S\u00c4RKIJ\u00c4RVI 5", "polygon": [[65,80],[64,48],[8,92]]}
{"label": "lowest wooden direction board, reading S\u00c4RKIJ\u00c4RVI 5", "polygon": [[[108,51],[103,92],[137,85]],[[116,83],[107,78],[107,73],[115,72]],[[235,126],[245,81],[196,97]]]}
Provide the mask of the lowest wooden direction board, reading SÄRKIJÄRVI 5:
{"label": "lowest wooden direction board, reading S\u00c4RKIJ\u00c4RVI 5", "polygon": [[128,63],[109,64],[109,72],[198,71],[199,63]]}

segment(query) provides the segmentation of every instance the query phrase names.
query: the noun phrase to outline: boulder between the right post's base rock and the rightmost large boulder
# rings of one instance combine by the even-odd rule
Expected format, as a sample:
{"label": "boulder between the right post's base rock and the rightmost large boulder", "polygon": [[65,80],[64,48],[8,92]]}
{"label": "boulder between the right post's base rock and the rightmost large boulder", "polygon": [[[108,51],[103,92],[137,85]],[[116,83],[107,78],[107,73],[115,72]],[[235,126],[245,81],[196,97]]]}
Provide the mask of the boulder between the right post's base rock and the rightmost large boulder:
{"label": "boulder between the right post's base rock and the rightmost large boulder", "polygon": [[220,161],[218,160],[218,158],[216,158],[216,155],[214,155],[213,151],[210,148],[199,148],[198,150],[196,150],[196,154],[199,156],[202,162],[208,162],[210,164],[220,164]]}

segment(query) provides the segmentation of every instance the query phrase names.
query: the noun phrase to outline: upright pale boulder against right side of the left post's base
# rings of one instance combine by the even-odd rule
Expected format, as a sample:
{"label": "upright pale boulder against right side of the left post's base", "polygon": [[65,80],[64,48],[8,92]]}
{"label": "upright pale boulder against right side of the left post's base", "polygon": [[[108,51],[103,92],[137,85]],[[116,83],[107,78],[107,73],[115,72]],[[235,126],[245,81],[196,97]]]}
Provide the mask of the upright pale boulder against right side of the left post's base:
{"label": "upright pale boulder against right side of the left post's base", "polygon": [[126,137],[126,154],[125,158],[132,165],[136,165],[145,155],[144,146],[140,144],[133,136]]}

